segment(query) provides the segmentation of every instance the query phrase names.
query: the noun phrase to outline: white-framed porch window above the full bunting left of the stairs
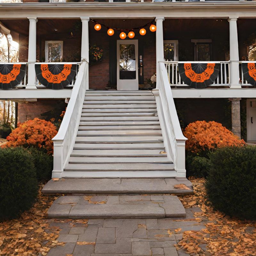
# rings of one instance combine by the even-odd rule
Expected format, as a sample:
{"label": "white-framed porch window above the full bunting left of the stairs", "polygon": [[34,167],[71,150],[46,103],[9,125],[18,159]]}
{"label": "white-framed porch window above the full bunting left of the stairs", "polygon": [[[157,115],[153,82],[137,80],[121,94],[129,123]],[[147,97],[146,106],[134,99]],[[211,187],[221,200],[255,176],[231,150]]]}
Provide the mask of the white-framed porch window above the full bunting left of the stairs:
{"label": "white-framed porch window above the full bunting left of the stairs", "polygon": [[63,58],[63,41],[45,41],[45,61],[61,62]]}

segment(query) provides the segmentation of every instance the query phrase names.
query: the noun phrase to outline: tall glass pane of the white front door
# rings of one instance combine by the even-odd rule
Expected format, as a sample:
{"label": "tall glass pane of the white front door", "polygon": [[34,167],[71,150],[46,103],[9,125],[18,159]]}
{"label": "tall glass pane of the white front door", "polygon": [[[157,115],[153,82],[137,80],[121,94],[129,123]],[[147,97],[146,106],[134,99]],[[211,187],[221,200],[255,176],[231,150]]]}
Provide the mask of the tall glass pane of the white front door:
{"label": "tall glass pane of the white front door", "polygon": [[120,44],[119,79],[136,79],[134,44]]}

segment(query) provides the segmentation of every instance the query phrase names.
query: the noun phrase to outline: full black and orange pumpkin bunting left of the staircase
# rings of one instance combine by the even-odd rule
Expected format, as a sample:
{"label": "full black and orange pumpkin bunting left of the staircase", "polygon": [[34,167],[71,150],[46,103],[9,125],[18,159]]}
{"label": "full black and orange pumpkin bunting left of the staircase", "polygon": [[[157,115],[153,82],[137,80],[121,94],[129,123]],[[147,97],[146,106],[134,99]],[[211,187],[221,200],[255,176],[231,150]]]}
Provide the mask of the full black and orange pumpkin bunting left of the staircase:
{"label": "full black and orange pumpkin bunting left of the staircase", "polygon": [[49,89],[63,89],[76,76],[76,64],[35,64],[38,81]]}

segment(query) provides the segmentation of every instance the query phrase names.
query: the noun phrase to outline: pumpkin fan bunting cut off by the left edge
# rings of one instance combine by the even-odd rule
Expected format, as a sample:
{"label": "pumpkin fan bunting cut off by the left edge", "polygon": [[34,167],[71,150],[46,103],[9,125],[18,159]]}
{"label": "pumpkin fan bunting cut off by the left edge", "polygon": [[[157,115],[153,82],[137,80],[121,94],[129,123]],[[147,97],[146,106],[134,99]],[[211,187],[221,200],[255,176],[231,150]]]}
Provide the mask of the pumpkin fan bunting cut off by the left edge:
{"label": "pumpkin fan bunting cut off by the left edge", "polygon": [[26,73],[26,64],[0,64],[0,89],[12,89],[20,84]]}

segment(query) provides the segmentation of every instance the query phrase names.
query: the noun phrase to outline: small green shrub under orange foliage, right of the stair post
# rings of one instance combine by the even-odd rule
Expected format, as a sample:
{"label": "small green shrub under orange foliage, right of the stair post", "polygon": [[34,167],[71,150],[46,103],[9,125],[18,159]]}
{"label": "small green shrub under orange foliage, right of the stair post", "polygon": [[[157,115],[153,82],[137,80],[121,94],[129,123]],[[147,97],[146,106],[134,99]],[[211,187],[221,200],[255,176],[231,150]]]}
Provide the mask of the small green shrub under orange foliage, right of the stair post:
{"label": "small green shrub under orange foliage, right of the stair post", "polygon": [[203,156],[186,156],[186,175],[196,178],[206,178],[211,161]]}

